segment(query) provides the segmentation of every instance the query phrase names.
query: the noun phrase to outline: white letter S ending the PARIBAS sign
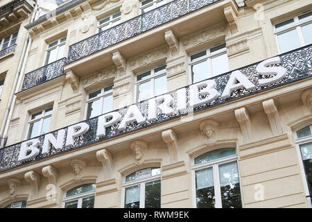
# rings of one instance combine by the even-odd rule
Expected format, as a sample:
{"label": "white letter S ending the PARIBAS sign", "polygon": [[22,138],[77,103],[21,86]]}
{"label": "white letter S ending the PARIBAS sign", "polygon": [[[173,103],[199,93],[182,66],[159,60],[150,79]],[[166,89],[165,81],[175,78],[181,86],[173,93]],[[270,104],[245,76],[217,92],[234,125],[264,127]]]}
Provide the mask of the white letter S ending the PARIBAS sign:
{"label": "white letter S ending the PARIBAS sign", "polygon": [[260,62],[256,70],[259,72],[259,75],[272,76],[270,78],[259,78],[260,86],[267,86],[273,83],[277,83],[279,80],[282,80],[286,76],[286,69],[284,67],[268,67],[269,65],[277,65],[280,64],[281,60],[279,60],[279,56],[274,58],[269,58],[268,60],[264,60]]}

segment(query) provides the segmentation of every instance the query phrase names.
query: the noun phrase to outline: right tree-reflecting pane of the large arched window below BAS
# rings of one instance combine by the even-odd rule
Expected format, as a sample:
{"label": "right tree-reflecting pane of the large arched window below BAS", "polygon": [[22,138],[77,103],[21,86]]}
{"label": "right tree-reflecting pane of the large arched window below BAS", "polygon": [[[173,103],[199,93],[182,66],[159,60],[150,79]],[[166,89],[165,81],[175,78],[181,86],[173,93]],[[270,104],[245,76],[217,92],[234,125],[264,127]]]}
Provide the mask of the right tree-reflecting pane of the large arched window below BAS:
{"label": "right tree-reflecting pane of the large arched window below BAS", "polygon": [[223,208],[241,208],[239,171],[236,162],[219,166],[221,200]]}

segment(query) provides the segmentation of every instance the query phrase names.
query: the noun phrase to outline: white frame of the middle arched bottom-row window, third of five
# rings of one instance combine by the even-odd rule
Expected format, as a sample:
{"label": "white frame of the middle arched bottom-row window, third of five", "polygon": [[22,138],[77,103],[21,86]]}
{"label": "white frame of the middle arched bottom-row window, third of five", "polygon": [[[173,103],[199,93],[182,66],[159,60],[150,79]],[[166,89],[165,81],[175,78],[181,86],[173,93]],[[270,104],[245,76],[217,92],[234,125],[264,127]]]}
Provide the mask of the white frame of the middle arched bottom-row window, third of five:
{"label": "white frame of the middle arched bottom-row window, third of five", "polygon": [[[146,167],[146,168],[153,168],[153,167]],[[143,169],[146,169],[143,168]],[[155,167],[155,168],[160,168],[160,167]],[[135,173],[139,170],[132,171],[131,173]],[[131,173],[128,173],[126,176],[129,176]],[[125,189],[128,187],[133,187],[136,185],[140,185],[140,203],[139,203],[139,208],[144,208],[145,207],[145,185],[147,182],[153,182],[156,180],[160,180],[160,183],[162,183],[162,180],[160,179],[162,175],[162,171],[156,176],[151,176],[147,178],[142,178],[139,180],[135,181],[130,181],[130,182],[125,182],[126,176],[123,177],[123,191],[122,191],[122,198],[121,198],[121,207],[125,208]],[[161,185],[162,186],[162,185]],[[144,194],[144,195],[142,195]]]}

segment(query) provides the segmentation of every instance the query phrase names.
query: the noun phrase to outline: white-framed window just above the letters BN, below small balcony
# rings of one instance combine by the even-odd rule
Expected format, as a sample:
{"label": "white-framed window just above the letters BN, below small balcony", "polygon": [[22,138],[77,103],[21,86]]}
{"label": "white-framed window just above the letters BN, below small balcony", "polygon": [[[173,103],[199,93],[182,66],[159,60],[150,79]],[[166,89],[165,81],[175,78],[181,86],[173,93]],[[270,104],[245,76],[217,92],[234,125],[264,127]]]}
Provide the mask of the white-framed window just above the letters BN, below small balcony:
{"label": "white-framed window just above the letters BN, below small balcony", "polygon": [[49,132],[52,110],[53,107],[31,115],[31,118],[28,121],[29,128],[27,139]]}

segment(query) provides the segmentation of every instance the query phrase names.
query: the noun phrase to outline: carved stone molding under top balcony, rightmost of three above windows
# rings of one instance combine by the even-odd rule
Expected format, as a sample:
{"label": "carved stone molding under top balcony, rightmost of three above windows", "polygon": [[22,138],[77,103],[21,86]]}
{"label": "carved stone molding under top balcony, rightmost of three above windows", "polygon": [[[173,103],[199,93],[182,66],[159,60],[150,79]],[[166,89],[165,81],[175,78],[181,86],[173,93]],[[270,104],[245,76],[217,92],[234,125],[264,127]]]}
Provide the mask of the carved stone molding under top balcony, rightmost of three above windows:
{"label": "carved stone molding under top balcony, rightmost of three above windows", "polygon": [[191,49],[221,36],[225,36],[225,26],[219,25],[205,28],[203,31],[189,35],[189,37],[183,38],[182,42],[185,49]]}

